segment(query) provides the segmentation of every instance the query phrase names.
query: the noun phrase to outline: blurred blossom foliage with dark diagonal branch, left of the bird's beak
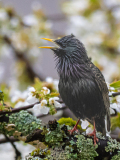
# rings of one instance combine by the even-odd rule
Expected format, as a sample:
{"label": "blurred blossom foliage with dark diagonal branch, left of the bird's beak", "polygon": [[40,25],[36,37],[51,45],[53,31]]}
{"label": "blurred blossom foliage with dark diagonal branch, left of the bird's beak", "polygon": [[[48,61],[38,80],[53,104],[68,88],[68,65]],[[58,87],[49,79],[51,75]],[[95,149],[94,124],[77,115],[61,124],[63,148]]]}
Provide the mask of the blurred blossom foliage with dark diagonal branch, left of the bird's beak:
{"label": "blurred blossom foliage with dark diagonal branch, left of the bird's beak", "polygon": [[[51,22],[39,6],[32,14],[20,17],[12,7],[0,5],[0,58],[14,57],[11,72],[16,87],[24,90],[35,77],[43,80],[33,65],[41,55],[38,49],[42,45],[41,38],[51,34]],[[11,83],[10,79],[8,85],[13,85]]]}

